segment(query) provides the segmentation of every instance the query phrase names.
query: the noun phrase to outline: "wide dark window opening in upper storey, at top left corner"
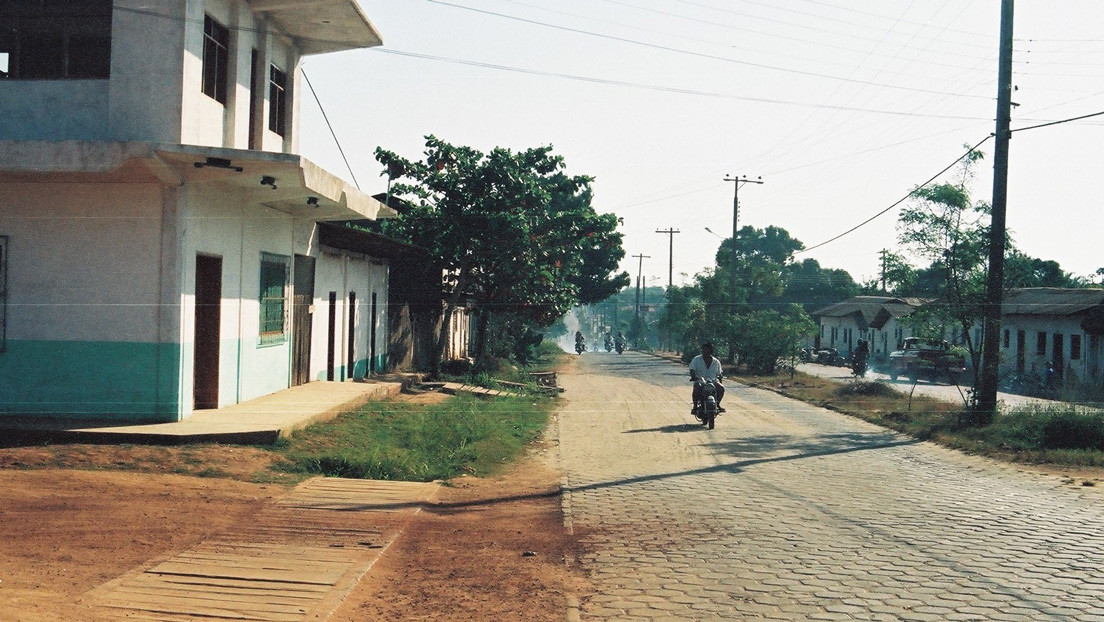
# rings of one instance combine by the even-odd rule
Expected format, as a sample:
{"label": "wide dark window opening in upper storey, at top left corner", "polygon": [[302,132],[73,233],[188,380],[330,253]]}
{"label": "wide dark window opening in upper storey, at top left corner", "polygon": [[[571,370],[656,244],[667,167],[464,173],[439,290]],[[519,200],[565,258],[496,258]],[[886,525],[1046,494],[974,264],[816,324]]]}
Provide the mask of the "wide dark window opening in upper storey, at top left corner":
{"label": "wide dark window opening in upper storey, at top left corner", "polygon": [[112,68],[112,0],[0,2],[0,80],[102,80]]}

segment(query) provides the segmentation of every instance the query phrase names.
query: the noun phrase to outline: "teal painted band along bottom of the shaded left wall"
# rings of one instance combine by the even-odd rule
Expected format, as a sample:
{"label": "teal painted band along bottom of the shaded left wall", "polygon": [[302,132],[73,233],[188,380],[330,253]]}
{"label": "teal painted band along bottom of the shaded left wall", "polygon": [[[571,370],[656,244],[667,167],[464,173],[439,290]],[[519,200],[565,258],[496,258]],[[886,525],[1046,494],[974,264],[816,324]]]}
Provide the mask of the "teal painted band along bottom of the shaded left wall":
{"label": "teal painted band along bottom of the shaded left wall", "polygon": [[0,414],[176,421],[179,378],[178,344],[10,340]]}

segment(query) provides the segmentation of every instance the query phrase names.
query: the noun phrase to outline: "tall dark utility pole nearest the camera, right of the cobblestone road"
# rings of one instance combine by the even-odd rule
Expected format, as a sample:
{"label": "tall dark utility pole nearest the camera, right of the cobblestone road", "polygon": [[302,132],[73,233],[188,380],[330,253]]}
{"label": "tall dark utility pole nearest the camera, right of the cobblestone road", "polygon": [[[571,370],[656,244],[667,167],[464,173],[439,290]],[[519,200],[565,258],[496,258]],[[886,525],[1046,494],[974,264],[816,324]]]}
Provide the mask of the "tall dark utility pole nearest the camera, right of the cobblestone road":
{"label": "tall dark utility pole nearest the camera, right of the cobblestone road", "polygon": [[1012,120],[1013,0],[1000,2],[1000,54],[997,57],[997,130],[992,151],[992,215],[989,229],[989,282],[986,288],[985,345],[977,388],[975,423],[987,424],[997,414],[1000,370],[1000,305],[1005,296],[1005,213],[1008,207],[1008,141]]}

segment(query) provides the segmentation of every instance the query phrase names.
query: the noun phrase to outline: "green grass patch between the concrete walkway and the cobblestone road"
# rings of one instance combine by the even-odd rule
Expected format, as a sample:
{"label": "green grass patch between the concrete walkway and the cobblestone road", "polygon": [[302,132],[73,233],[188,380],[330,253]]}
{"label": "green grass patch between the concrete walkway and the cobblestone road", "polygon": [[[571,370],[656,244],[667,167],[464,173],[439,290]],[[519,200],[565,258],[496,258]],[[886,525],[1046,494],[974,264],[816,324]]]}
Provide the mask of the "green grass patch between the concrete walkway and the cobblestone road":
{"label": "green grass patch between the concrete walkway and the cobblestone road", "polygon": [[455,397],[439,404],[371,402],[275,447],[278,468],[338,477],[429,482],[486,475],[517,457],[548,423],[551,400]]}

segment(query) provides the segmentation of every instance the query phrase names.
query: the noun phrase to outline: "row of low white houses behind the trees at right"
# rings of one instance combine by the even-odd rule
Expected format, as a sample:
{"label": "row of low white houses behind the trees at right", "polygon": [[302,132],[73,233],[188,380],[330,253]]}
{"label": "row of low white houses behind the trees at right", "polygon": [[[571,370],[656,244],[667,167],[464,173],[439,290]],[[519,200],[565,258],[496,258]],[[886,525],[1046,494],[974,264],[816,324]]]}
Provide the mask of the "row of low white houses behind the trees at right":
{"label": "row of low white houses behind the trees at right", "polygon": [[[850,356],[859,339],[871,355],[882,357],[901,347],[912,330],[905,318],[930,298],[856,296],[813,313],[819,325],[813,347],[836,348]],[[1027,287],[1009,289],[1001,305],[1000,373],[1042,372],[1053,365],[1068,383],[1098,384],[1104,369],[1104,289]],[[980,327],[970,329],[981,342]],[[945,338],[962,344],[965,336],[948,327]]]}

